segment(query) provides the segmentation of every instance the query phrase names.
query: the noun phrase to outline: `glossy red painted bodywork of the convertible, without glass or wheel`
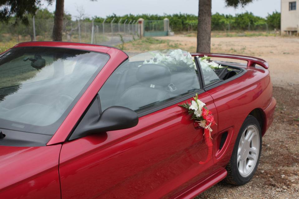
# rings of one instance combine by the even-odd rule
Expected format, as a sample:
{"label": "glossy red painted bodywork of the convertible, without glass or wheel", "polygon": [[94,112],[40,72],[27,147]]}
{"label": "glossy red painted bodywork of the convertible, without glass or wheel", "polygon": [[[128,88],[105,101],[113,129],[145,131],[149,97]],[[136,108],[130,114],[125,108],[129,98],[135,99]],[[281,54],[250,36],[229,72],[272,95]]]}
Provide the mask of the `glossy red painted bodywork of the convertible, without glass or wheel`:
{"label": "glossy red painted bodywork of the convertible, without glass or wheel", "polygon": [[[199,94],[218,124],[212,127],[213,158],[205,164],[198,164],[208,151],[203,129],[194,126],[178,104],[140,117],[135,127],[67,141],[94,96],[128,56],[112,47],[66,42],[27,42],[14,48],[25,46],[89,50],[110,59],[46,146],[0,146],[1,198],[192,198],[225,178],[236,137],[250,113],[259,114],[262,134],[273,121],[276,101],[268,64],[208,54],[246,60],[248,65],[238,65],[247,70],[242,76]],[[219,149],[224,132],[227,138]]]}

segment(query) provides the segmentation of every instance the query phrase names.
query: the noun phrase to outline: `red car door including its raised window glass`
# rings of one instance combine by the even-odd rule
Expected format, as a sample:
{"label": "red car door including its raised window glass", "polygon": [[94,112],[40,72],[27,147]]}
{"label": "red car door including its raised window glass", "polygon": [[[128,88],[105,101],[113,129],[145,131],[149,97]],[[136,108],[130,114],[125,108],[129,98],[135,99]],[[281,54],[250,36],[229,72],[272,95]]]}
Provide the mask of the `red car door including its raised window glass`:
{"label": "red car door including its raised window glass", "polygon": [[[64,143],[59,164],[62,198],[175,197],[214,172],[213,159],[206,161],[203,129],[178,106],[198,93],[218,122],[197,71],[143,64],[144,57],[122,63],[90,106],[99,113],[114,105],[131,108],[139,123]],[[217,132],[216,125],[212,129]]]}

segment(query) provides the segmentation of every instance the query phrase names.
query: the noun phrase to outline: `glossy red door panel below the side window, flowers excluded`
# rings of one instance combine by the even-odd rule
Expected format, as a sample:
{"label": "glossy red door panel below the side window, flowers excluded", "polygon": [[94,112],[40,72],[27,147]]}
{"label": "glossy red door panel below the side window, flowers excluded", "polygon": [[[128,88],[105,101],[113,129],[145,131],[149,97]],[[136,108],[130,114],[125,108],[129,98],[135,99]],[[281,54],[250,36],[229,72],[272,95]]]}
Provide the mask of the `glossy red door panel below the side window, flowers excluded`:
{"label": "glossy red door panel below the side window, flowers excluded", "polygon": [[[213,100],[199,98],[217,120]],[[185,102],[185,101],[183,101]],[[217,122],[217,121],[216,121]],[[217,132],[217,126],[213,126]],[[137,126],[63,144],[62,198],[171,197],[212,172],[203,129],[178,104],[139,118]]]}

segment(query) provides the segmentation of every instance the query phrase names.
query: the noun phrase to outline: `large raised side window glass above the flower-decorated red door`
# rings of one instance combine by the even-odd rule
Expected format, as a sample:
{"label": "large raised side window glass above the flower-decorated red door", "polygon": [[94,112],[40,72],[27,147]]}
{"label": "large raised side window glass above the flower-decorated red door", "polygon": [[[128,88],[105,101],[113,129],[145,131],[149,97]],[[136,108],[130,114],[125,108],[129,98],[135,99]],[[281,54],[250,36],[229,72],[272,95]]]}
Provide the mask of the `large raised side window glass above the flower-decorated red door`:
{"label": "large raised side window glass above the flower-decorated red door", "polygon": [[99,91],[102,111],[118,105],[141,112],[200,89],[195,63],[183,50],[141,53],[122,63]]}

